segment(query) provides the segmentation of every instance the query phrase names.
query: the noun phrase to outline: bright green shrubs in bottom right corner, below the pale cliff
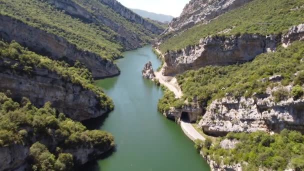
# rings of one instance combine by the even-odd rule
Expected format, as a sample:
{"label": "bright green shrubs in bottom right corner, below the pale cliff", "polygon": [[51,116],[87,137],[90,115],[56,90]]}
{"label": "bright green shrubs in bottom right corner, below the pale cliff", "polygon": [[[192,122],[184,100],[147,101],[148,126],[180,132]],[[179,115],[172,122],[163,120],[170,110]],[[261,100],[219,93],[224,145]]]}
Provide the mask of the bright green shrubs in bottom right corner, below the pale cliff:
{"label": "bright green shrubs in bottom right corner, below the pale cliff", "polygon": [[304,169],[304,136],[297,131],[284,129],[273,135],[262,131],[228,133],[225,138],[237,139],[239,143],[234,149],[223,149],[218,142],[211,146],[209,141],[197,141],[195,148],[217,164],[247,162],[248,165],[242,164],[243,170],[284,170],[289,166],[295,170]]}

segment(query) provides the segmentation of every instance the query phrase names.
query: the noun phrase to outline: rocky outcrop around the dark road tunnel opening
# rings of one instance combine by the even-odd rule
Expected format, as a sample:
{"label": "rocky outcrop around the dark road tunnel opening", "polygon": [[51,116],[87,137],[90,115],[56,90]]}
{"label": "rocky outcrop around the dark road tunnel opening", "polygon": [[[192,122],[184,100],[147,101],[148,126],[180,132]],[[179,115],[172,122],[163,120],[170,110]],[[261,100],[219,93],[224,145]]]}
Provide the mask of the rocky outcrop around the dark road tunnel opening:
{"label": "rocky outcrop around the dark road tunnel opening", "polygon": [[184,105],[181,108],[171,107],[170,110],[163,112],[164,116],[177,122],[183,119],[186,122],[195,122],[201,114],[202,108],[198,104]]}

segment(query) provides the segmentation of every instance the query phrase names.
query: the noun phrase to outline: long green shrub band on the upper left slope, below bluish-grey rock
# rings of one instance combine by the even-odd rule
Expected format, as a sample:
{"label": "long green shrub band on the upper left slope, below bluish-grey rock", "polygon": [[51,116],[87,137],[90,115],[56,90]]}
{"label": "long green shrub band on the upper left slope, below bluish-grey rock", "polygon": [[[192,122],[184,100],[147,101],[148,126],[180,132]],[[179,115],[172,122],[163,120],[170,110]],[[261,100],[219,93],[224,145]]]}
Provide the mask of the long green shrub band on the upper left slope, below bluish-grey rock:
{"label": "long green shrub band on the upper left slope, below bluish-grey rock", "polygon": [[57,10],[44,0],[1,0],[0,14],[64,37],[77,48],[111,59],[120,56],[122,46],[115,40],[115,32],[104,25],[84,23]]}

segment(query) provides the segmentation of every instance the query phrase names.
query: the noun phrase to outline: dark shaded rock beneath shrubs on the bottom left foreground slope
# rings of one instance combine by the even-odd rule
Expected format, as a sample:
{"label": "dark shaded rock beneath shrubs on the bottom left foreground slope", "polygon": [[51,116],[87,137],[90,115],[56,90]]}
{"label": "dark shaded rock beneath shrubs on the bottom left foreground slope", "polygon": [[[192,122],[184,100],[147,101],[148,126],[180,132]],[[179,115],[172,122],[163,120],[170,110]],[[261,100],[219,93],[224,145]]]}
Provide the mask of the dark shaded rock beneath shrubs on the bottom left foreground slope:
{"label": "dark shaded rock beneath shrubs on the bottom left foreground slope", "polygon": [[[29,148],[30,146],[39,141],[40,143],[47,146],[47,148],[53,152],[55,151],[58,144],[62,144],[64,139],[55,136],[55,130],[51,129],[49,132],[50,137],[45,137],[43,135],[37,135],[32,132],[32,128],[28,129],[29,134],[32,133],[34,136],[27,136],[24,139],[25,145],[22,144],[12,144],[10,146],[0,147],[0,171],[5,170],[15,170],[24,171],[28,170],[29,162]],[[42,137],[42,138],[40,138]],[[95,147],[90,143],[84,143],[79,145],[72,145],[68,147],[61,148],[62,152],[70,153],[73,155],[75,165],[82,165],[86,162],[96,159],[102,153],[109,151],[112,148],[112,144],[105,144],[104,146]],[[30,167],[29,167],[30,168]]]}

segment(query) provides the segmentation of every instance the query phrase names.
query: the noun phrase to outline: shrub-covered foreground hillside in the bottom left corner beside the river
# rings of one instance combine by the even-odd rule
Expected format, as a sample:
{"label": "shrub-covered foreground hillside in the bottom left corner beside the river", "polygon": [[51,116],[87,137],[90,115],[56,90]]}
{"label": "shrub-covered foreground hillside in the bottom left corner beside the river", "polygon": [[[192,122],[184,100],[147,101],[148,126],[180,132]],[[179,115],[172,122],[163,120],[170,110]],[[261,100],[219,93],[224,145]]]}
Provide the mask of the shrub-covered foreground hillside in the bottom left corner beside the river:
{"label": "shrub-covered foreground hillside in the bottom left corner beside the river", "polygon": [[71,170],[114,146],[111,134],[57,115],[50,103],[36,108],[7,94],[0,92],[0,170]]}

